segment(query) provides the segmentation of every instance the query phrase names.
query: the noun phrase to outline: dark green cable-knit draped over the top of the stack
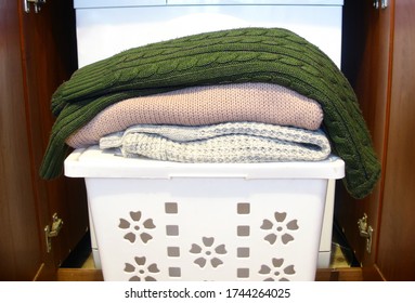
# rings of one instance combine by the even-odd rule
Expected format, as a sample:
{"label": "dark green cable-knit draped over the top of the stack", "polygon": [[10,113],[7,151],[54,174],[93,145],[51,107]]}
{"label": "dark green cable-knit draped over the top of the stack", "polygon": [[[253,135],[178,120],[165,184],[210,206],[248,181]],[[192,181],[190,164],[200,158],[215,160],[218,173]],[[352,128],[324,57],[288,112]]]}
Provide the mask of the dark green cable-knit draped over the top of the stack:
{"label": "dark green cable-knit draped over the top of the stack", "polygon": [[371,193],[380,164],[350,83],[326,54],[282,28],[204,32],[127,50],[78,69],[52,96],[57,118],[40,175],[59,176],[66,137],[116,102],[238,82],[276,83],[317,101],[333,150],[346,162],[347,189],[355,198]]}

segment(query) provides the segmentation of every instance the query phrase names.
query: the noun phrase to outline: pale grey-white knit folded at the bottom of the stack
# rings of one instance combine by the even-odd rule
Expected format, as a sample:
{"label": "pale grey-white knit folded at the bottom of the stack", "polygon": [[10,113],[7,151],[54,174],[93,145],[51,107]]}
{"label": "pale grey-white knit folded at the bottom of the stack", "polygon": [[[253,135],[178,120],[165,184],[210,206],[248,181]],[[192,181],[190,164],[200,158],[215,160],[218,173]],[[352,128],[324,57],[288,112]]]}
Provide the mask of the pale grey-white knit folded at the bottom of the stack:
{"label": "pale grey-white knit folded at the bottom of the stack", "polygon": [[139,124],[106,135],[100,148],[119,148],[125,157],[178,162],[319,161],[330,154],[317,131],[256,122],[206,127]]}

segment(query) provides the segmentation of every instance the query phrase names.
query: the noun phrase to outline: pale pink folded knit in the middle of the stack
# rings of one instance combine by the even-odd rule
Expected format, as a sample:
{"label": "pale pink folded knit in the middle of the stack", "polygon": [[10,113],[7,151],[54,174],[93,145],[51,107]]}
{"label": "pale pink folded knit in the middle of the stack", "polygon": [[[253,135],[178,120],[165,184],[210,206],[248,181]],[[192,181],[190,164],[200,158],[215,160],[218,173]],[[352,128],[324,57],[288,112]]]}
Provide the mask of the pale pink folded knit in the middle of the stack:
{"label": "pale pink folded knit in the middle of the stack", "polygon": [[129,98],[96,115],[66,144],[79,148],[134,124],[206,126],[252,121],[316,130],[323,121],[319,103],[287,88],[269,83],[194,87]]}

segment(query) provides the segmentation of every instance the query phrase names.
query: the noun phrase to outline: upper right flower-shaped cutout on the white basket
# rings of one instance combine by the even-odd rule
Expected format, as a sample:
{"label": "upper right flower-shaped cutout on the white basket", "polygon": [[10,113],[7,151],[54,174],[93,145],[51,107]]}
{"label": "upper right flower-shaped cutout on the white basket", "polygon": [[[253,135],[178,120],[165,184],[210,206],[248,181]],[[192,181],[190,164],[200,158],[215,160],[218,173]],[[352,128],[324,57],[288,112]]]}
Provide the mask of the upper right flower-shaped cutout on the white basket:
{"label": "upper right flower-shaped cutout on the white basket", "polygon": [[297,220],[291,220],[289,222],[285,222],[287,218],[286,212],[275,212],[274,213],[275,222],[272,222],[268,219],[264,219],[261,225],[261,229],[264,230],[271,230],[271,234],[268,234],[264,237],[264,240],[270,242],[270,245],[273,245],[276,242],[278,237],[281,238],[281,241],[286,245],[294,240],[294,237],[289,234],[289,230],[297,230],[298,224]]}

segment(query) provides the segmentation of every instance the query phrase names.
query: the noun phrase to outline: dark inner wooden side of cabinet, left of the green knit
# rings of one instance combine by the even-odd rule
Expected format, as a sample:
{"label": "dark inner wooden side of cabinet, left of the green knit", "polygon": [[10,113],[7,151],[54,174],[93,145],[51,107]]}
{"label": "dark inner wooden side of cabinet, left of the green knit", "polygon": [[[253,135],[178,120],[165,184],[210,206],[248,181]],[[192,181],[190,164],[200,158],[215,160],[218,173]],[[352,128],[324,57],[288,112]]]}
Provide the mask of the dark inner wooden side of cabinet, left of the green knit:
{"label": "dark inner wooden side of cabinet, left of the green knit", "polygon": [[[22,1],[23,2],[23,1]],[[51,224],[57,214],[64,225],[52,239],[55,266],[59,266],[88,229],[88,206],[81,179],[62,175],[44,181],[38,171],[48,145],[54,117],[51,96],[78,66],[73,1],[48,1],[39,13],[22,10],[23,61],[27,80],[28,128],[33,145],[36,195],[49,209],[41,221]],[[43,203],[46,202],[46,203]],[[43,226],[46,226],[43,225]]]}

